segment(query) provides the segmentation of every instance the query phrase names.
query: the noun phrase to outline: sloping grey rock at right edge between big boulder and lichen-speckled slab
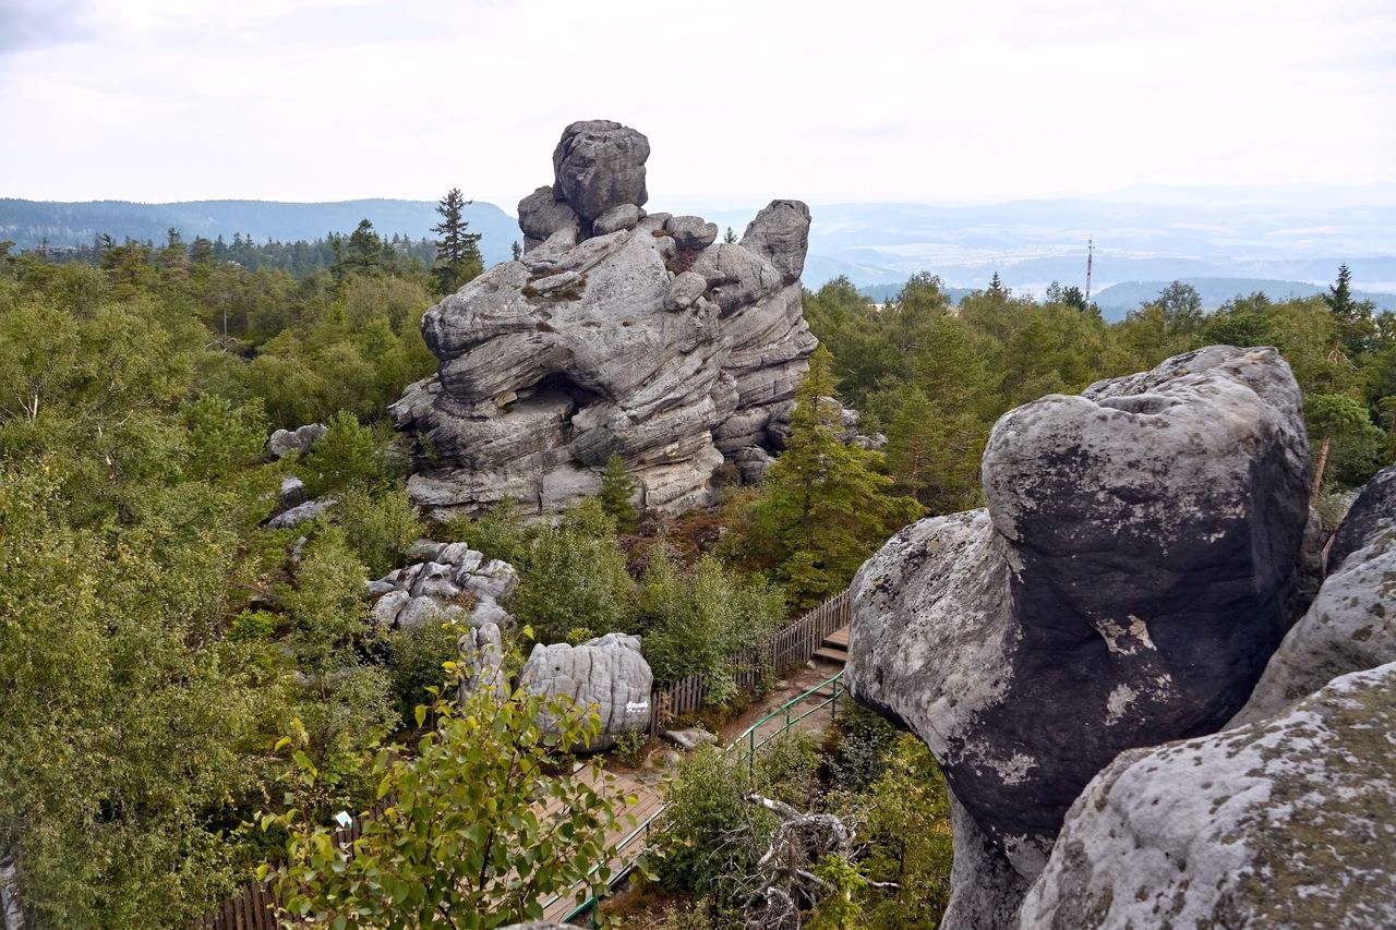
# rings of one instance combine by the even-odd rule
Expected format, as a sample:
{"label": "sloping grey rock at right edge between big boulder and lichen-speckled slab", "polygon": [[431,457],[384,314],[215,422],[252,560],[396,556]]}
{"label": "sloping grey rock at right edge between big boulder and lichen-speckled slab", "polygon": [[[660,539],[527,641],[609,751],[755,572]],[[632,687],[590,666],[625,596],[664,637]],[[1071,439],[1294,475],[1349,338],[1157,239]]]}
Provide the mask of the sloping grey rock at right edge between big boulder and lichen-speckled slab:
{"label": "sloping grey rock at right edge between big boulder and lichen-speckled slab", "polygon": [[1276,714],[1340,674],[1396,662],[1393,479],[1396,466],[1368,482],[1349,511],[1335,538],[1337,559],[1318,598],[1284,637],[1230,726]]}

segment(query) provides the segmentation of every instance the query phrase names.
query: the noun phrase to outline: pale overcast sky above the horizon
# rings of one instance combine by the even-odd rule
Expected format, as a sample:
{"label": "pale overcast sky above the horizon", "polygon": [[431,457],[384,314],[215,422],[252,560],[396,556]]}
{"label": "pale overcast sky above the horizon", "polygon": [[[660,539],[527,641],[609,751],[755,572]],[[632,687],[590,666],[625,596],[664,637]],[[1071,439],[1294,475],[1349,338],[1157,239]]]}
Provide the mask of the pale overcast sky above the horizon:
{"label": "pale overcast sky above the horizon", "polygon": [[507,209],[577,119],[651,205],[1396,183],[1392,0],[0,0],[0,197]]}

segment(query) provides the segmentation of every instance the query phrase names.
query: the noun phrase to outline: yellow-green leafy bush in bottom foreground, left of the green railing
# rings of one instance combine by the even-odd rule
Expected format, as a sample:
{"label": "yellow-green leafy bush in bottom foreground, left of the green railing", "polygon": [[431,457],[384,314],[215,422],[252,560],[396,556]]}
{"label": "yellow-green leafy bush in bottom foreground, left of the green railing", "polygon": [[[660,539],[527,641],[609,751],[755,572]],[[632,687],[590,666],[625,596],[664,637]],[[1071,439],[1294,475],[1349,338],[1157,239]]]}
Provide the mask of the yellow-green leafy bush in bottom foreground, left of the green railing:
{"label": "yellow-green leafy bush in bottom foreground, left of the green railing", "polygon": [[[542,917],[542,902],[577,883],[610,880],[607,831],[621,815],[609,778],[597,776],[597,789],[591,778],[549,774],[560,746],[596,736],[595,714],[522,691],[431,709],[438,722],[413,757],[378,755],[377,796],[391,806],[363,817],[352,850],[335,848],[302,809],[264,817],[264,828],[289,832],[288,859],[271,870],[289,915],[331,926],[498,927]],[[539,726],[544,714],[556,730]],[[296,758],[313,793],[320,774],[304,753]]]}

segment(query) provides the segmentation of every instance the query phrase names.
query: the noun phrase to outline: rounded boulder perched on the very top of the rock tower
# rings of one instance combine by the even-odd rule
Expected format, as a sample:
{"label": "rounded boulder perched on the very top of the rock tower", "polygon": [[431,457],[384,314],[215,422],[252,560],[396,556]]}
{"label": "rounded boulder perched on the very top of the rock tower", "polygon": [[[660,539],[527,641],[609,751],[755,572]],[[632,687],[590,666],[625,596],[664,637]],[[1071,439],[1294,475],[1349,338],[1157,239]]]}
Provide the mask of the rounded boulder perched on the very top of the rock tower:
{"label": "rounded boulder perched on the very top of the rock tower", "polygon": [[649,140],[610,120],[582,120],[563,130],[553,149],[554,190],[589,228],[611,207],[649,200],[645,159]]}

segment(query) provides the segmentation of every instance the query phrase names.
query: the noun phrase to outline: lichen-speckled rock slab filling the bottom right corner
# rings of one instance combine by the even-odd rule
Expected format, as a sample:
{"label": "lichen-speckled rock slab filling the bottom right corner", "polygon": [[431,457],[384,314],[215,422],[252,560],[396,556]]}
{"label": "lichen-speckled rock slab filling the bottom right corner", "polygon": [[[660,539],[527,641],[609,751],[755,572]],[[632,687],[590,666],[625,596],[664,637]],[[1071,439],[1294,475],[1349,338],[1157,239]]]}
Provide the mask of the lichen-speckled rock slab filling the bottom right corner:
{"label": "lichen-speckled rock slab filling the bottom right corner", "polygon": [[1396,926],[1392,733],[1396,663],[1122,753],[1072,806],[1018,926]]}

